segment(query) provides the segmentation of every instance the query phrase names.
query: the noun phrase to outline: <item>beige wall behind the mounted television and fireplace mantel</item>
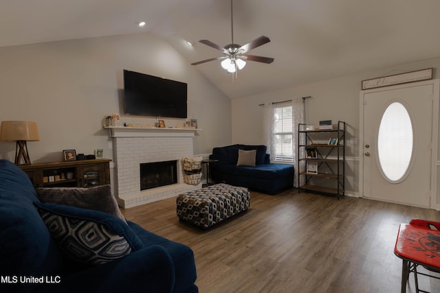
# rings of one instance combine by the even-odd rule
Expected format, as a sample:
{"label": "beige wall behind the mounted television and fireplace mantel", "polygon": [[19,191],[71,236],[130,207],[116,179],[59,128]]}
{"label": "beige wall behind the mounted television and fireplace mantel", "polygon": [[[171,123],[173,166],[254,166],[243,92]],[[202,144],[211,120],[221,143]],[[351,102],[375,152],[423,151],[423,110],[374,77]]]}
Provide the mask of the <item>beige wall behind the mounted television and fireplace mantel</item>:
{"label": "beige wall behind the mounted television and fireplace mantel", "polygon": [[[122,69],[188,83],[188,118],[199,128],[195,154],[231,141],[230,99],[204,78],[168,43],[152,34],[66,40],[0,48],[0,121],[36,121],[40,141],[29,142],[33,163],[60,161],[61,152],[93,154],[104,149],[113,159],[102,119],[153,124],[154,117],[126,116]],[[166,126],[184,119],[164,118]],[[0,142],[0,159],[14,161],[14,143]]]}

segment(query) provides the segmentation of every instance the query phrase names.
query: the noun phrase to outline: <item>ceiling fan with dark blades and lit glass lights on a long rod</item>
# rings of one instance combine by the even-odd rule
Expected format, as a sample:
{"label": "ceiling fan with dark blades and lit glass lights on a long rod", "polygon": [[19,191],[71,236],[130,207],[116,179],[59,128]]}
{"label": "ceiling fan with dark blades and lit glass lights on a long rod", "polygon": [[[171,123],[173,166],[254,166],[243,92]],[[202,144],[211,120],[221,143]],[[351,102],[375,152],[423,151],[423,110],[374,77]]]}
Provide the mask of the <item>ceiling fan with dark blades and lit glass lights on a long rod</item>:
{"label": "ceiling fan with dark blades and lit glass lights on a long rod", "polygon": [[241,69],[243,69],[243,67],[245,67],[246,60],[262,62],[262,63],[267,63],[267,64],[274,62],[274,58],[246,54],[246,53],[248,53],[248,51],[250,51],[256,47],[260,47],[261,45],[264,45],[265,43],[269,43],[270,38],[267,38],[267,36],[260,36],[259,38],[256,38],[255,40],[252,40],[250,43],[243,45],[243,46],[238,45],[238,44],[234,44],[234,19],[233,19],[232,1],[233,0],[231,0],[232,42],[229,45],[225,45],[225,47],[221,47],[220,45],[212,43],[210,40],[199,40],[199,42],[204,45],[208,45],[214,49],[222,51],[223,56],[209,58],[206,60],[201,60],[199,62],[191,63],[191,65],[199,65],[199,64],[214,61],[214,60],[223,60],[221,62],[221,67],[223,67],[223,69],[227,70],[230,73],[236,73],[237,69],[241,70]]}

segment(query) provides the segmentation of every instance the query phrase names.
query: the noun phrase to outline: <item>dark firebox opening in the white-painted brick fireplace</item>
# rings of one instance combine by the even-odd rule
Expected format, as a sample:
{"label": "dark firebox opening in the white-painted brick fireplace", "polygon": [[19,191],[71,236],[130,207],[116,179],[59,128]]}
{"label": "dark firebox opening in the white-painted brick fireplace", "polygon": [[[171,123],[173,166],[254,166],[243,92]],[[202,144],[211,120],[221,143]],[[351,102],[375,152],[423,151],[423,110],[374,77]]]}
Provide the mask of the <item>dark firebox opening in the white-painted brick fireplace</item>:
{"label": "dark firebox opening in the white-painted brick fireplace", "polygon": [[177,161],[140,164],[140,190],[177,183]]}

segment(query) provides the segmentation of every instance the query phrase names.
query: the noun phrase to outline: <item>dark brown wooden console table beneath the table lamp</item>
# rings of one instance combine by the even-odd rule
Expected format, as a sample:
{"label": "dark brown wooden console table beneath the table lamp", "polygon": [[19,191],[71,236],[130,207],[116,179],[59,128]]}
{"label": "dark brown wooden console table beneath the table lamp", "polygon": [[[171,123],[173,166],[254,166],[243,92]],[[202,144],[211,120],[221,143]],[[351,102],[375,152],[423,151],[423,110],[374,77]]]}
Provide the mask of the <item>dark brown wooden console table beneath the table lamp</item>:
{"label": "dark brown wooden console table beneath the table lamp", "polygon": [[110,184],[109,159],[19,165],[38,187],[94,187]]}

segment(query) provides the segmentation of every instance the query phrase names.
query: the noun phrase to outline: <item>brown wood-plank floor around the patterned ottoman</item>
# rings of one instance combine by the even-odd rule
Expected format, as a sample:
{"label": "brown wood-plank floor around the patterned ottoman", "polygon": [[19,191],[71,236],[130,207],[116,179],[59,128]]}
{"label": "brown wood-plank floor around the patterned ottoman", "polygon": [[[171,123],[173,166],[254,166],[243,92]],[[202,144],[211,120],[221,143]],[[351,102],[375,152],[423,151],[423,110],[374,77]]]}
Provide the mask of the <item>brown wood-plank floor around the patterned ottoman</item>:
{"label": "brown wood-plank floor around the patterned ottoman", "polygon": [[[175,198],[122,209],[127,220],[195,253],[201,293],[400,292],[399,224],[440,222],[440,212],[401,204],[298,193],[252,192],[250,209],[206,231],[176,216]],[[440,292],[438,280],[420,279]],[[407,292],[415,292],[410,278]]]}

